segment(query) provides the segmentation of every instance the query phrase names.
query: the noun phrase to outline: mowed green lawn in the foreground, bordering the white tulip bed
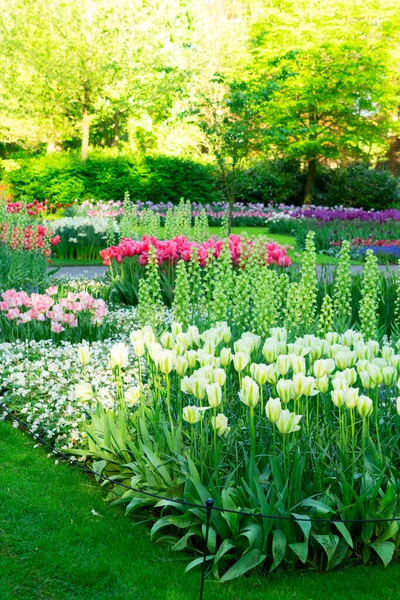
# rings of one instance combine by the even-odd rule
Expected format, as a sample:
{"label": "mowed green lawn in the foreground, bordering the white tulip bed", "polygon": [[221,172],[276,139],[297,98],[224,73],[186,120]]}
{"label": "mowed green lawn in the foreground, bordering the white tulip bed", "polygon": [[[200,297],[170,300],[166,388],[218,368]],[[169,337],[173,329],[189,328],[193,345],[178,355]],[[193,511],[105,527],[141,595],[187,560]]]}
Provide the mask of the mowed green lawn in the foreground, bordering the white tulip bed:
{"label": "mowed green lawn in the foreground, bordering the white tulip bed", "polygon": [[[151,543],[143,517],[125,517],[86,474],[34,445],[0,423],[1,600],[198,599],[188,556]],[[399,577],[397,564],[207,580],[204,600],[396,600]]]}

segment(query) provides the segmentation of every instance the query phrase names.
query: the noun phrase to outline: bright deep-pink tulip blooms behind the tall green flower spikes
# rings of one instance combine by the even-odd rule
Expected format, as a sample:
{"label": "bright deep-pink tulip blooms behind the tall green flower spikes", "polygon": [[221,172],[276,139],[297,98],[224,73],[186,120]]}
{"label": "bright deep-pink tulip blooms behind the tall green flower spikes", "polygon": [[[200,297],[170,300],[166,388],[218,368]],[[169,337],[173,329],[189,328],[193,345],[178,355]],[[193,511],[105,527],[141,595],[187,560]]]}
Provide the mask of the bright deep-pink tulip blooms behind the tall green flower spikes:
{"label": "bright deep-pink tulip blooms behind the tall green flower spikes", "polygon": [[[162,265],[165,262],[175,264],[179,259],[188,262],[194,252],[197,253],[197,258],[201,267],[207,263],[209,252],[212,252],[215,258],[218,258],[222,247],[223,240],[210,238],[206,242],[197,243],[190,242],[185,236],[181,235],[173,240],[158,240],[157,238],[144,235],[141,241],[122,238],[118,246],[111,246],[100,252],[103,259],[103,264],[110,266],[111,261],[115,260],[121,263],[124,258],[137,256],[140,265],[146,265],[149,260],[150,246],[154,246],[158,264]],[[238,235],[231,235],[229,238],[229,250],[231,253],[232,263],[239,266],[243,255],[248,255],[249,249],[254,242],[241,238]],[[265,249],[265,251],[264,251]],[[290,257],[287,255],[285,248],[275,244],[274,242],[266,243],[263,249],[263,258],[269,265],[275,264],[280,267],[288,267],[291,264]]]}

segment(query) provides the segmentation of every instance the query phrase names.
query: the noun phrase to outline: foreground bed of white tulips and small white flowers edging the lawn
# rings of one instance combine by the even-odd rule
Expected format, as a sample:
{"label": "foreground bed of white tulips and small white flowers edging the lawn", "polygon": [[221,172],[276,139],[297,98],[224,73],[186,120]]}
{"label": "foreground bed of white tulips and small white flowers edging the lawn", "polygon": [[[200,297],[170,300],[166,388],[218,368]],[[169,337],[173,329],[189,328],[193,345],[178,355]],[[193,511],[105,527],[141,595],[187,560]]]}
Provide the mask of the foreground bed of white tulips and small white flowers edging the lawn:
{"label": "foreground bed of white tulips and small white flowers edging the lawn", "polygon": [[211,495],[222,512],[211,514],[207,567],[221,581],[257,567],[388,564],[399,542],[400,355],[354,331],[287,338],[174,323],[159,336],[132,331],[132,347],[3,345],[2,384],[35,431],[115,480],[109,500],[128,513],[151,507],[153,539],[168,527],[175,550],[198,548],[205,513],[176,501]]}

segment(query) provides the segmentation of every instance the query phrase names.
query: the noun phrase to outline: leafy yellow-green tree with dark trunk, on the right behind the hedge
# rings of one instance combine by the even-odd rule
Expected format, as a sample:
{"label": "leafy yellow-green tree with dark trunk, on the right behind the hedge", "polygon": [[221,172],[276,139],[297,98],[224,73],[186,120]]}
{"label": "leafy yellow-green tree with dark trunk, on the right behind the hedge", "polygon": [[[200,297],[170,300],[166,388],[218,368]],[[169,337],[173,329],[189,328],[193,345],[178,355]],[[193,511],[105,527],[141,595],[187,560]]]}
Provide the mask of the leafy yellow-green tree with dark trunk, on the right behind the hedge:
{"label": "leafy yellow-green tree with dark trunk, on the right behind the hedge", "polygon": [[254,70],[275,84],[263,107],[266,147],[303,161],[305,203],[319,163],[369,158],[387,143],[392,30],[382,2],[364,10],[341,0],[271,0],[255,27]]}

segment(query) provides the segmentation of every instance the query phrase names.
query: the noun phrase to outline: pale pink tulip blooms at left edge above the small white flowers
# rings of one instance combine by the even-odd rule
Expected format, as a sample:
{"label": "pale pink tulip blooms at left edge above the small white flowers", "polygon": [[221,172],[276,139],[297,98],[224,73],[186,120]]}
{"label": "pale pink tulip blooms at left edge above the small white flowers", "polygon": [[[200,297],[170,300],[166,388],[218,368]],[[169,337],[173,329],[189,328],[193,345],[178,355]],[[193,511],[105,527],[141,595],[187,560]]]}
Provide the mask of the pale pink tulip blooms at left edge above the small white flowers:
{"label": "pale pink tulip blooms at left edge above the small white flowers", "polygon": [[54,333],[65,331],[64,326],[77,327],[78,315],[87,312],[93,325],[101,325],[107,314],[107,305],[102,299],[93,298],[88,292],[66,297],[54,298],[58,294],[58,286],[49,287],[45,294],[27,294],[16,290],[2,292],[0,315],[9,321],[15,320],[18,325],[31,321],[50,320],[50,328]]}

